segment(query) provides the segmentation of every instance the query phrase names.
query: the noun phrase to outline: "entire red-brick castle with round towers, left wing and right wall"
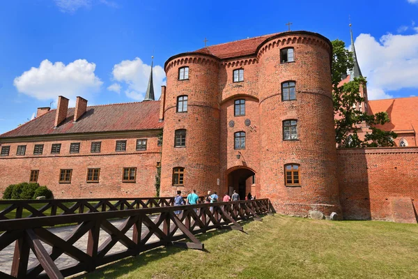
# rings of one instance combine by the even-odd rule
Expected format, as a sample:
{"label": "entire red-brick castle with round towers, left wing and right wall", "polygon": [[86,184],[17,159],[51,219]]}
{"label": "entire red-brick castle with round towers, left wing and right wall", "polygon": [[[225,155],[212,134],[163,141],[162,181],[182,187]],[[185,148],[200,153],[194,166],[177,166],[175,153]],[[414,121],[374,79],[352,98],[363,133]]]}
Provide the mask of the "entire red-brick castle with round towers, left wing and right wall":
{"label": "entire red-brick castle with round towers, left wing and right wall", "polygon": [[337,150],[331,56],[324,36],[288,31],[171,56],[160,100],[152,70],[140,103],[68,108],[59,96],[0,135],[1,190],[31,180],[56,198],[154,196],[161,165],[162,196],[236,190],[281,213],[416,222],[418,98],[369,101],[364,87],[358,105],[387,111],[382,128],[402,147]]}

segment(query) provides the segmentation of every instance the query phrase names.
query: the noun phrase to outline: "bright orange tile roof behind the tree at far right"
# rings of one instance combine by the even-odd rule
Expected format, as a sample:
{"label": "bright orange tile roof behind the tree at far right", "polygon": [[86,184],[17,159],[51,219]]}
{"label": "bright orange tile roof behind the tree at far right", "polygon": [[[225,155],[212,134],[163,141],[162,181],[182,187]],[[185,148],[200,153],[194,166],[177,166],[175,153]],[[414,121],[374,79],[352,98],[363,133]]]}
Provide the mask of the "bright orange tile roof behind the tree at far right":
{"label": "bright orange tile roof behind the tree at far right", "polygon": [[369,100],[369,113],[387,112],[390,122],[382,130],[418,130],[418,97]]}

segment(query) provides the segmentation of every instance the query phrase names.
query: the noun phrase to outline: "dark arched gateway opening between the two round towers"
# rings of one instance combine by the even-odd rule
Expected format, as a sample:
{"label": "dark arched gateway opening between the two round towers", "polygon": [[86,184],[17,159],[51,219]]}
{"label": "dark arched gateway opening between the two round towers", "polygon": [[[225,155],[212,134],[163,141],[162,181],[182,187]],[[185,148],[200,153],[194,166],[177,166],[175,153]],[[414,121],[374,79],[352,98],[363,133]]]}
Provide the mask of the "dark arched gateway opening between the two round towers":
{"label": "dark arched gateway opening between the two round towers", "polygon": [[[239,166],[228,169],[226,171],[226,186],[229,195],[232,195],[233,190],[235,190],[240,195],[240,199],[245,199],[247,194],[251,192],[251,186],[254,182],[252,180],[255,175],[256,172],[249,167]],[[254,196],[255,193],[252,193],[252,195]]]}

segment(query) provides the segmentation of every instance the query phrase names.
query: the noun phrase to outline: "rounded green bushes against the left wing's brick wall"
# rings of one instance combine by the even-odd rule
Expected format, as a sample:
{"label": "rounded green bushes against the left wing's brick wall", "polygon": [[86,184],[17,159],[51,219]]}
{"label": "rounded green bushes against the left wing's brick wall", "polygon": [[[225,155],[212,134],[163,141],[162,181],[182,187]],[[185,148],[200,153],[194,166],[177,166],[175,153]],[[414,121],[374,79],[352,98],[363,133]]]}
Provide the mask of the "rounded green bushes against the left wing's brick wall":
{"label": "rounded green bushes against the left wing's brick wall", "polygon": [[38,183],[22,182],[9,185],[3,192],[3,199],[36,199],[39,196],[51,199],[52,191],[47,186],[39,186]]}

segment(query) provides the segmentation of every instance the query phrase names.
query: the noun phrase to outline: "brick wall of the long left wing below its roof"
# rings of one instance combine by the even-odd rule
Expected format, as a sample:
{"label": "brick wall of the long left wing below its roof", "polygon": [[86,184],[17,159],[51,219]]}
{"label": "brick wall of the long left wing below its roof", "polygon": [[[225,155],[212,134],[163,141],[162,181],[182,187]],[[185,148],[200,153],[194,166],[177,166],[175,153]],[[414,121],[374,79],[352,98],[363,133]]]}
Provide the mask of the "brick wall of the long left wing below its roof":
{"label": "brick wall of the long left wing below its roof", "polygon": [[[135,150],[137,139],[147,139],[146,151]],[[115,151],[116,140],[127,140],[126,151]],[[91,142],[100,141],[100,153],[91,153]],[[80,142],[79,153],[70,153],[71,142]],[[55,143],[61,143],[59,154],[51,154],[51,146]],[[17,145],[25,144],[25,156],[16,156]],[[35,144],[44,144],[42,155],[33,155]],[[38,183],[50,188],[56,198],[155,196],[156,164],[161,160],[161,147],[157,146],[156,136],[96,136],[82,140],[75,137],[2,145],[10,145],[10,155],[0,157],[1,193],[10,184],[29,181],[31,169],[38,169]],[[137,167],[135,183],[122,182],[123,167]],[[86,182],[88,168],[100,168],[99,183]],[[72,169],[71,183],[59,183],[60,169]]]}

